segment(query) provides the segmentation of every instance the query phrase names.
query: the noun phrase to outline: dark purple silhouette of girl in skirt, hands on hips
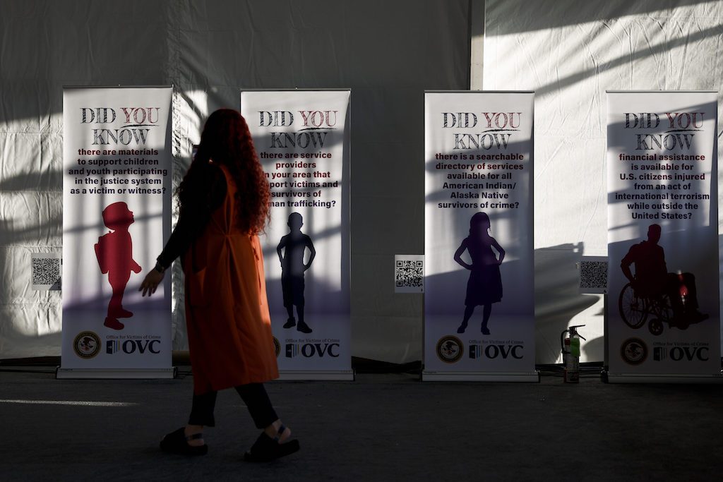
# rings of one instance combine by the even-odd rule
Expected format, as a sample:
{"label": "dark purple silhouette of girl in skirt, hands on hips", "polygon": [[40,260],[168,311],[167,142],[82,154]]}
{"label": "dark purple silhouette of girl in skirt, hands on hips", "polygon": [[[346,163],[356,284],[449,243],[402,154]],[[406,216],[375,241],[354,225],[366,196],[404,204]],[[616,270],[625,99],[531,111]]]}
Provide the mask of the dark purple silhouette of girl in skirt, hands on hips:
{"label": "dark purple silhouette of girl in skirt, hands on hips", "polygon": [[[492,251],[493,246],[500,255],[499,259]],[[464,251],[469,253],[472,264],[468,264],[462,259]],[[466,330],[474,307],[482,305],[484,306],[482,334],[489,335],[487,322],[492,313],[492,304],[502,300],[500,264],[504,258],[505,250],[495,238],[489,236],[489,217],[484,212],[476,212],[469,220],[469,236],[462,240],[462,244],[454,254],[454,260],[470,271],[467,281],[467,296],[464,300],[464,319],[457,329],[458,333]]]}

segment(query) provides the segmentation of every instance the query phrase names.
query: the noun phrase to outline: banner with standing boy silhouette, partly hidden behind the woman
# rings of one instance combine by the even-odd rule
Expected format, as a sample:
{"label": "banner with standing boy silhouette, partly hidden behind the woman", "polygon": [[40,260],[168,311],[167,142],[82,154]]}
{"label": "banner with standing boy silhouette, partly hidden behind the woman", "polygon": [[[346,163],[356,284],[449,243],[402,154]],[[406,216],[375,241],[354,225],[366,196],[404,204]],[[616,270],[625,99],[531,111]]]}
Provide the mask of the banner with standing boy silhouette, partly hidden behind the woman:
{"label": "banner with standing boy silhouette, partly hidden behind the woman", "polygon": [[245,90],[271,190],[261,236],[281,379],[353,379],[349,90]]}

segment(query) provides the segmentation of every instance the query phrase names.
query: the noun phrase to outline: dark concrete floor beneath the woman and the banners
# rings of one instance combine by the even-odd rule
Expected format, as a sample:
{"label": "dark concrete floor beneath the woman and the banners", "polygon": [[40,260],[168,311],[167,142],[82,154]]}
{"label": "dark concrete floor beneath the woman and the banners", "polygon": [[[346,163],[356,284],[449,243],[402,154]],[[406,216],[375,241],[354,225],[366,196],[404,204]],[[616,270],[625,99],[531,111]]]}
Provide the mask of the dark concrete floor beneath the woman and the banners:
{"label": "dark concrete floor beneath the woman and the banners", "polygon": [[301,451],[242,460],[258,431],[236,392],[218,397],[209,454],[158,449],[183,425],[192,377],[56,380],[0,366],[0,481],[719,481],[723,386],[271,382]]}

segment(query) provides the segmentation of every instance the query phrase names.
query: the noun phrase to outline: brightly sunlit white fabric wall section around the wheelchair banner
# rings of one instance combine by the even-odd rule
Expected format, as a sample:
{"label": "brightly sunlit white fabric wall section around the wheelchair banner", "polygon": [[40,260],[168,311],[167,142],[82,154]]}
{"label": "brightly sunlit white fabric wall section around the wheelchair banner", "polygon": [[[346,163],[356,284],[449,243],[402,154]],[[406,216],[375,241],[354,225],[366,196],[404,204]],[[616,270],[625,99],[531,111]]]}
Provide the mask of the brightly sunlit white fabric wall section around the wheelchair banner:
{"label": "brightly sunlit white fabric wall section around the wheelchair banner", "polygon": [[[722,43],[721,1],[485,2],[483,85],[473,88],[536,92],[539,363],[559,356],[570,324],[586,324],[581,361],[603,359],[602,296],[577,294],[575,263],[607,255],[605,91],[723,95]],[[719,108],[719,132],[722,119]]]}

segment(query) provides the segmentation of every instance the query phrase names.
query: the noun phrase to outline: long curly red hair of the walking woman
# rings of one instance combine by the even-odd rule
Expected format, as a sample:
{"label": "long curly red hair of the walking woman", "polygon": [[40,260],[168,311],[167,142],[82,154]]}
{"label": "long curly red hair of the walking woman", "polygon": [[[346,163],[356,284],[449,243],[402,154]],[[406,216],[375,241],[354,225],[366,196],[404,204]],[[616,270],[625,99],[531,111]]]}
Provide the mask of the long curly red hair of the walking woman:
{"label": "long curly red hair of the walking woman", "polygon": [[[185,199],[184,191],[193,191],[194,179],[208,172],[209,160],[225,165],[236,184],[239,228],[252,234],[263,232],[269,213],[268,181],[256,155],[249,126],[238,111],[219,109],[208,117],[196,156],[179,186],[181,209],[184,202],[203,202],[202,199]],[[206,206],[210,210],[208,199]]]}

